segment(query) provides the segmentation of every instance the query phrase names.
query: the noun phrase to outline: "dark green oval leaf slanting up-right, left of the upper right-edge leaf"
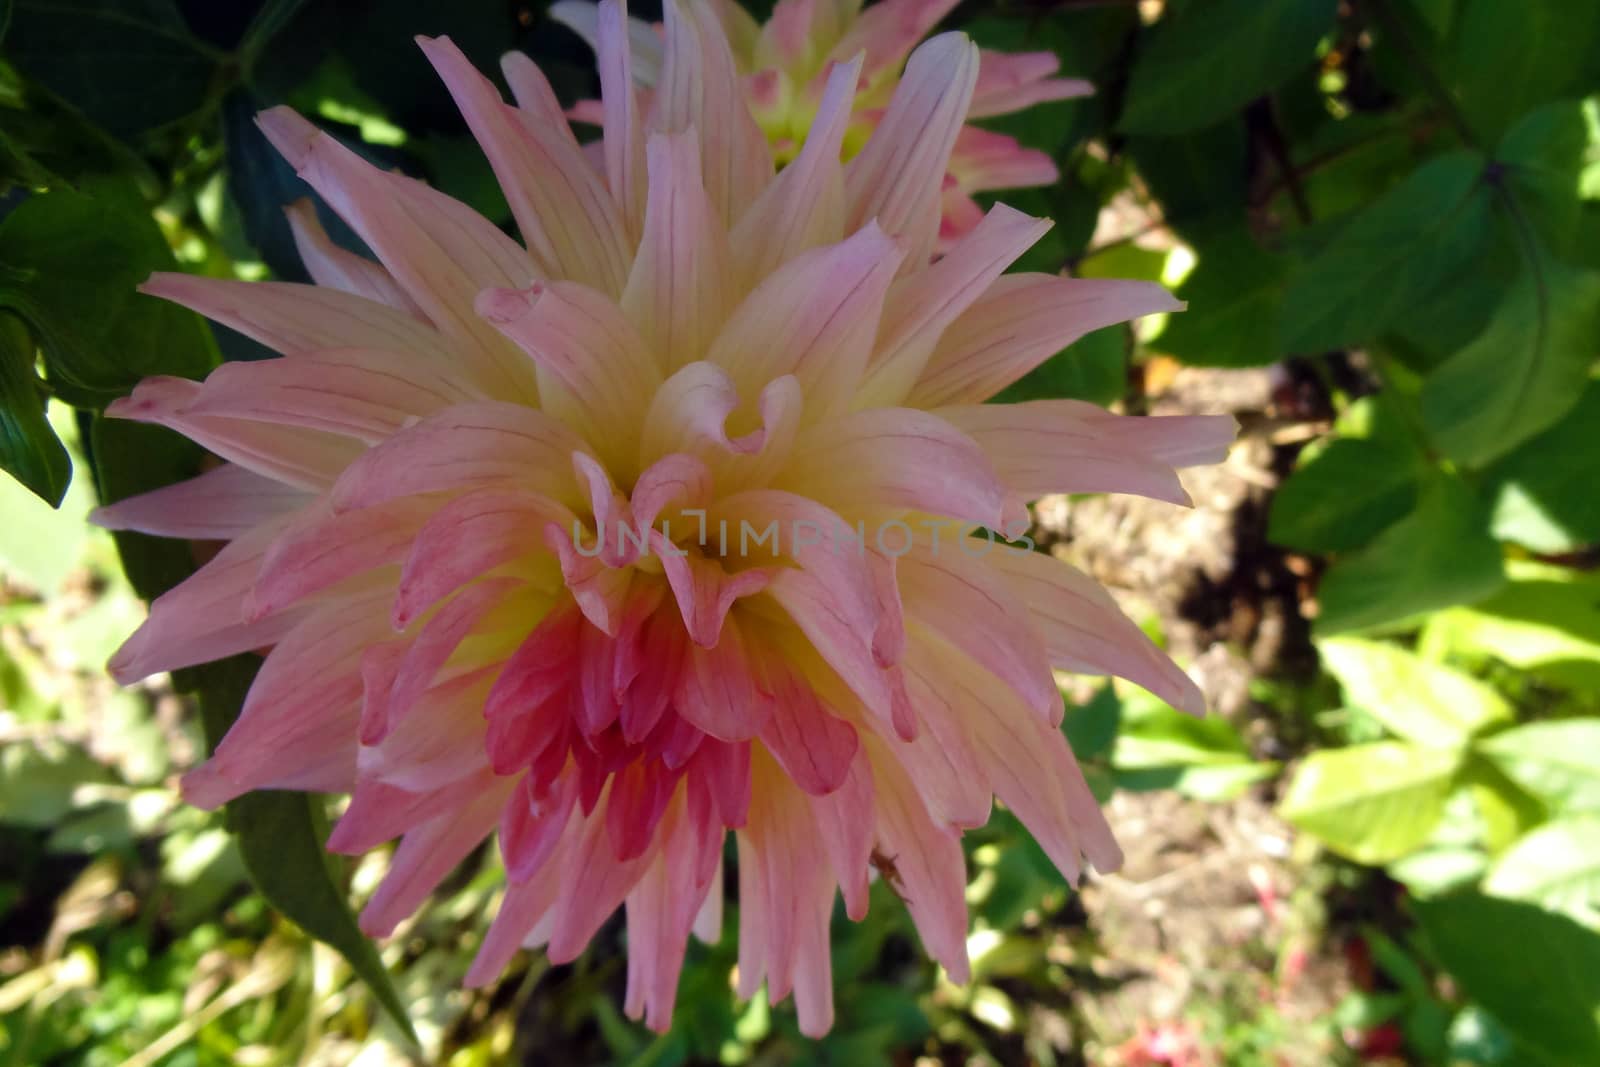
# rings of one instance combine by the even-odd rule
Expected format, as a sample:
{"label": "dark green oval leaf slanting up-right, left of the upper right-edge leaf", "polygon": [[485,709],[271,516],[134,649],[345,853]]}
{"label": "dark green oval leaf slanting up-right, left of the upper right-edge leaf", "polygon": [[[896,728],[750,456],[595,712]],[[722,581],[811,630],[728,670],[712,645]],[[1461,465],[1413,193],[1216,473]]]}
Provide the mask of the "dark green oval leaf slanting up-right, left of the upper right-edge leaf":
{"label": "dark green oval leaf slanting up-right, left of the upper right-edge leaf", "polygon": [[1488,232],[1483,157],[1453,152],[1421,166],[1290,282],[1285,347],[1322,352],[1370,341],[1446,285]]}

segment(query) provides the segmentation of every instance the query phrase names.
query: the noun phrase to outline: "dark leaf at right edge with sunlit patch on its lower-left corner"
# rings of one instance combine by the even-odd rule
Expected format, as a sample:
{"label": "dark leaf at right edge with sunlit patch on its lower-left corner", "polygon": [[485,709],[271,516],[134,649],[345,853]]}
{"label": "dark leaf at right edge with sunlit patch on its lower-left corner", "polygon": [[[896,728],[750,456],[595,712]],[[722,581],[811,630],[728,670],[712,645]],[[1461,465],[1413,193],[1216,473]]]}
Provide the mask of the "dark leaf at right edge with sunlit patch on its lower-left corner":
{"label": "dark leaf at right edge with sunlit patch on its lower-left corner", "polygon": [[1560,422],[1485,472],[1493,530],[1534,552],[1573,552],[1600,541],[1600,384],[1584,387]]}

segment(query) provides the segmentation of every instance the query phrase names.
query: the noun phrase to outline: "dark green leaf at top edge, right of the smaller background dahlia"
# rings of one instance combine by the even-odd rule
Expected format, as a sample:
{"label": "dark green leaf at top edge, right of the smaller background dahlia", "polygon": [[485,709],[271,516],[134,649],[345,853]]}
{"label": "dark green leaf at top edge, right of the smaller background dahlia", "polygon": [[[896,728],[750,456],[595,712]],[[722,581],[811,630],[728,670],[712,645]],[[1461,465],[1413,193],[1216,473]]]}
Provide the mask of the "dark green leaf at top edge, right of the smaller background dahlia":
{"label": "dark green leaf at top edge, right of the smaller background dahlia", "polygon": [[1163,18],[1128,82],[1125,133],[1206,126],[1317,61],[1331,0],[1208,0]]}

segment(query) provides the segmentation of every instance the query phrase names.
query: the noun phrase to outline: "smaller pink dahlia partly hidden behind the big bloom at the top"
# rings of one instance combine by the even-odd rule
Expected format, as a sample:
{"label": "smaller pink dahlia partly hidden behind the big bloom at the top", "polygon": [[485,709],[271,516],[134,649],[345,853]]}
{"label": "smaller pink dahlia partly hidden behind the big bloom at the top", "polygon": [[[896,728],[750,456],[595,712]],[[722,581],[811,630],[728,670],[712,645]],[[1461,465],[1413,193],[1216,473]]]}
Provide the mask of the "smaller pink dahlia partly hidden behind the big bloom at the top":
{"label": "smaller pink dahlia partly hidden behind the big bloom at the top", "polygon": [[[906,56],[950,13],[957,0],[882,0],[862,11],[861,0],[778,0],[765,26],[736,0],[710,0],[730,42],[744,98],[782,165],[805,144],[837,64],[858,54],[861,67],[845,126],[848,160],[883,120],[906,66]],[[600,50],[600,13],[590,0],[558,0],[550,14]],[[658,88],[666,43],[656,27],[630,21],[634,83],[646,94]],[[981,51],[966,118],[1006,115],[1045,101],[1088,96],[1078,78],[1054,77],[1061,61],[1050,51]],[[578,118],[602,122],[597,102],[579,104]],[[941,251],[982,219],[976,192],[1050,186],[1056,163],[1014,138],[981,126],[962,126],[939,190]]]}

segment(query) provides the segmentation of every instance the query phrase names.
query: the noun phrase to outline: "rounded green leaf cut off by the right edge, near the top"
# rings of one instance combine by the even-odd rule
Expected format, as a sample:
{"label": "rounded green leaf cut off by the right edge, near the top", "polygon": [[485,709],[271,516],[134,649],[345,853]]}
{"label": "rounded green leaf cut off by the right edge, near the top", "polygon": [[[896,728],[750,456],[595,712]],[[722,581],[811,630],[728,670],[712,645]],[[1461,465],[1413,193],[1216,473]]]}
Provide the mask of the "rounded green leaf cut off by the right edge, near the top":
{"label": "rounded green leaf cut off by the right edge, near the top", "polygon": [[1523,115],[1494,152],[1494,162],[1506,168],[1507,190],[1552,248],[1570,248],[1576,237],[1587,147],[1584,106],[1557,101]]}

